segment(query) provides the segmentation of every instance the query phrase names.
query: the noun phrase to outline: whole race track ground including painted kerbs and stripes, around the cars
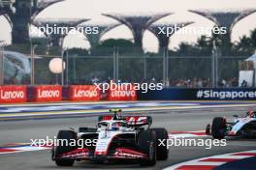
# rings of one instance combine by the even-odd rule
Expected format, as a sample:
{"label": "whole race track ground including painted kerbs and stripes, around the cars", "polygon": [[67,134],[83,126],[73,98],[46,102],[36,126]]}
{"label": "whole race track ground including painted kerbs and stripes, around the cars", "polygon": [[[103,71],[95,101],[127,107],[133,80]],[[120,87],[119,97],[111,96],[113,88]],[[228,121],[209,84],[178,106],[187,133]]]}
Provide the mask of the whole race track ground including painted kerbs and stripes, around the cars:
{"label": "whole race track ground including painted kerbs and stripes, around the cars", "polygon": [[[207,141],[205,128],[213,117],[244,116],[255,101],[62,102],[0,105],[0,163],[3,169],[60,169],[50,147],[31,147],[30,139],[56,136],[58,130],[95,127],[99,115],[122,108],[124,115],[150,115],[153,128],[167,128],[170,138]],[[255,169],[256,139],[227,137],[227,146],[171,146],[169,158],[153,167],[137,163],[76,162],[65,169]],[[254,166],[253,166],[254,164]]]}

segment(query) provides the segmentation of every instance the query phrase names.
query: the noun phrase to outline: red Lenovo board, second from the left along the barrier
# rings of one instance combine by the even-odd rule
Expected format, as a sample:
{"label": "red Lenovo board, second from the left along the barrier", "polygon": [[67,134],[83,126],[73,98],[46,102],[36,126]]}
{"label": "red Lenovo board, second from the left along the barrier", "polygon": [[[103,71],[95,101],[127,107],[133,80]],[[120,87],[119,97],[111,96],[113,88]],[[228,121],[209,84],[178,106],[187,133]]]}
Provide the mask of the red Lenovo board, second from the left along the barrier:
{"label": "red Lenovo board, second from the left along the barrier", "polygon": [[32,101],[61,101],[62,100],[62,86],[57,85],[42,85],[35,86],[33,89]]}

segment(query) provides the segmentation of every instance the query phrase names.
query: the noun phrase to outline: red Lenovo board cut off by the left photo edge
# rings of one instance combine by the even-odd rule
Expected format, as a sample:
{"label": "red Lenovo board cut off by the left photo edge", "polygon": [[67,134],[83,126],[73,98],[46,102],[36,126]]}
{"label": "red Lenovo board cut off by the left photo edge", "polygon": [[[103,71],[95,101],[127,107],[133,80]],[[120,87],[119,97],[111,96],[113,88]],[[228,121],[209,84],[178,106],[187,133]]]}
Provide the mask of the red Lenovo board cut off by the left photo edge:
{"label": "red Lenovo board cut off by the left photo edge", "polygon": [[0,103],[26,102],[26,86],[0,86]]}

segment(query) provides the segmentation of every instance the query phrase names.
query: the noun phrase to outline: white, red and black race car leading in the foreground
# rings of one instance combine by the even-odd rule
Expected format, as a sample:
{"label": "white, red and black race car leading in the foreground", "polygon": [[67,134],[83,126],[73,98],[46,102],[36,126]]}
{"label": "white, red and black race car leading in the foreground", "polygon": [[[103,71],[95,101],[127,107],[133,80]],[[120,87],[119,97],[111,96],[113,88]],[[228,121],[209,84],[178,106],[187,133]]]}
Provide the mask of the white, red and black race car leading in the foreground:
{"label": "white, red and black race car leading in the foreground", "polygon": [[[57,141],[69,144],[52,148],[52,160],[58,166],[72,166],[75,160],[105,162],[114,159],[138,160],[142,166],[153,166],[156,160],[168,158],[169,150],[159,145],[169,138],[165,128],[150,128],[149,116],[121,116],[120,109],[113,115],[100,116],[96,128],[60,130]],[[75,141],[75,142],[74,142]],[[82,147],[78,144],[82,143]]]}

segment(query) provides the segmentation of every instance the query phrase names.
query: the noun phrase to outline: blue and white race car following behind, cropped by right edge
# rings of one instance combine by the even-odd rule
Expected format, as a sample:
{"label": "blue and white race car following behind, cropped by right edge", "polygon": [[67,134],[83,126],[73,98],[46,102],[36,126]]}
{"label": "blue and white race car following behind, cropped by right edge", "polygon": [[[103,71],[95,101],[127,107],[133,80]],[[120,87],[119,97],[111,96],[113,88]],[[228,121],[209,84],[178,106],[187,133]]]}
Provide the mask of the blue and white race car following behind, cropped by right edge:
{"label": "blue and white race car following behind, cropped by right edge", "polygon": [[214,139],[223,139],[225,136],[256,137],[256,112],[249,110],[245,117],[234,115],[234,122],[228,123],[226,118],[216,117],[211,127],[207,126],[206,133]]}

